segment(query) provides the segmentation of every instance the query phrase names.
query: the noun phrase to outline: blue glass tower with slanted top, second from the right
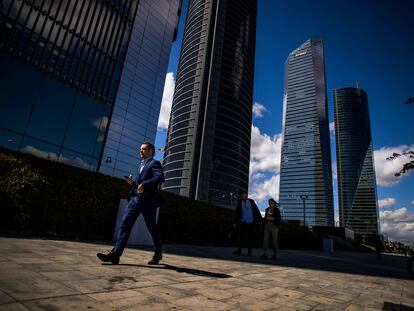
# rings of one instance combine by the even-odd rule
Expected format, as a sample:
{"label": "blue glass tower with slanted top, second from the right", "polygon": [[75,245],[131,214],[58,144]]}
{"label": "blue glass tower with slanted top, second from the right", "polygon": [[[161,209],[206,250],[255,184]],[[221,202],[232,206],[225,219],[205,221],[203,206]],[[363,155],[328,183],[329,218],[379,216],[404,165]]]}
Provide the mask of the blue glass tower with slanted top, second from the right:
{"label": "blue glass tower with slanted top, second from the right", "polygon": [[322,39],[306,41],[285,63],[279,201],[288,220],[334,225]]}

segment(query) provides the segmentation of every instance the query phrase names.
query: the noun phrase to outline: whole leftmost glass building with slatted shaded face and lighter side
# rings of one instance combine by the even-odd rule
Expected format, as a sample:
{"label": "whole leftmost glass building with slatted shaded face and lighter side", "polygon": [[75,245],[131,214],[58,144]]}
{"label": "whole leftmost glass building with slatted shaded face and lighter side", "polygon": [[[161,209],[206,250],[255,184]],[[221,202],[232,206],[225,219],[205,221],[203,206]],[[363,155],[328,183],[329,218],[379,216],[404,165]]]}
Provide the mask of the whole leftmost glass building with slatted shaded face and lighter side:
{"label": "whole leftmost glass building with slatted shaded face and lighter side", "polygon": [[[158,119],[178,7],[179,0],[1,1],[0,145],[94,171],[106,162],[112,170],[105,172],[112,175],[130,172],[130,166],[118,169],[118,159],[135,170],[140,142],[151,131],[155,137],[150,111],[158,105]],[[163,35],[151,45],[145,38],[152,33]],[[139,80],[144,67],[156,72],[144,73],[156,81]],[[133,93],[140,82],[146,91]],[[125,99],[120,89],[134,98]],[[139,112],[132,111],[141,99],[145,109],[135,104]],[[121,124],[121,135],[116,147],[110,145],[116,153],[102,161],[109,124],[115,130]],[[139,139],[121,141],[127,135]],[[133,160],[126,146],[134,150]]]}

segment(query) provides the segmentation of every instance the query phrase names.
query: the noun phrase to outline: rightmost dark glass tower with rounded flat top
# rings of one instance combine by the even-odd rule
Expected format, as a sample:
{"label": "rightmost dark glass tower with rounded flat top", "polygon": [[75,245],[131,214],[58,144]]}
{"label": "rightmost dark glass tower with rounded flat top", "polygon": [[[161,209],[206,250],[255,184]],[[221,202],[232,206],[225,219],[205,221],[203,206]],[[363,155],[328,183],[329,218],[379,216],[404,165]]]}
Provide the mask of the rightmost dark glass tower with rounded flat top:
{"label": "rightmost dark glass tower with rounded flat top", "polygon": [[339,222],[358,235],[379,233],[368,96],[353,87],[333,94]]}

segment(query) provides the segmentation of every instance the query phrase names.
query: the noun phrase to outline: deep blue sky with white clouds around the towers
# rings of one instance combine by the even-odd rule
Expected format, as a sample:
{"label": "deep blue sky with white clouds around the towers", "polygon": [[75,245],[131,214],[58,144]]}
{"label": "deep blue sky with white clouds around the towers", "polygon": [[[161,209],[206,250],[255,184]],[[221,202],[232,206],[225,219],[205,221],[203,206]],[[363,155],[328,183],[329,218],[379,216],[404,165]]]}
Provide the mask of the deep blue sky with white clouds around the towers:
{"label": "deep blue sky with white clouds around the towers", "polygon": [[[186,8],[184,0],[157,146],[165,144]],[[391,239],[414,242],[414,174],[397,178],[402,160],[385,160],[393,152],[414,150],[414,104],[404,104],[414,96],[413,12],[411,0],[258,1],[249,191],[261,209],[269,196],[278,198],[284,62],[309,38],[322,37],[330,122],[333,126],[333,89],[359,83],[369,99],[382,231]],[[335,168],[333,132],[331,138]],[[334,195],[337,209],[336,179]]]}

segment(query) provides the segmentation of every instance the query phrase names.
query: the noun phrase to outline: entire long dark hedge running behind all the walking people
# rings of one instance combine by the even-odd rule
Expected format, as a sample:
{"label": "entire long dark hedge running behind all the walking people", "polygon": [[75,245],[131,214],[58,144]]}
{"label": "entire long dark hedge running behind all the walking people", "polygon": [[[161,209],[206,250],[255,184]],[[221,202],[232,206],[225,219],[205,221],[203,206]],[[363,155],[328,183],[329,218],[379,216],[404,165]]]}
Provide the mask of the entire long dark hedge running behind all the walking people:
{"label": "entire long dark hedge running behind all the walking people", "polygon": [[[119,199],[129,186],[111,176],[0,149],[1,233],[83,239],[112,238]],[[233,211],[162,192],[166,243],[234,245]],[[259,233],[259,230],[258,232]],[[256,246],[261,246],[257,234]],[[282,248],[317,249],[306,228],[283,224]]]}

